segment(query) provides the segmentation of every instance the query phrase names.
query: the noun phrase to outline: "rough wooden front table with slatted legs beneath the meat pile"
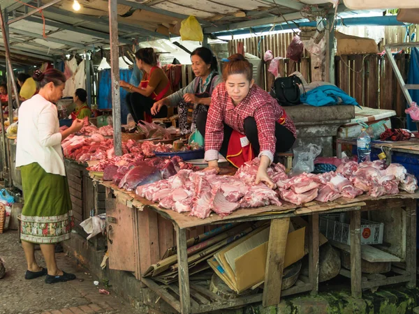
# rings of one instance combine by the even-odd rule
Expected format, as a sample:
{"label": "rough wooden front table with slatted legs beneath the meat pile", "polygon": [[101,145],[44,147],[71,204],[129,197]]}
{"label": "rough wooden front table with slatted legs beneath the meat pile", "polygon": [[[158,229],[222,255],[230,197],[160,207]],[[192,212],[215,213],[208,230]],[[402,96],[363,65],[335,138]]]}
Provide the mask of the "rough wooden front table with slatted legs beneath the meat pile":
{"label": "rough wooden front table with slatted legs beneath the meat pile", "polygon": [[[159,285],[150,278],[141,278],[150,289],[164,299],[170,306],[179,313],[203,313],[207,311],[216,311],[223,308],[243,306],[255,302],[263,302],[263,306],[272,306],[279,304],[282,296],[297,294],[301,292],[318,292],[318,264],[319,264],[319,214],[348,211],[351,216],[351,286],[353,297],[361,297],[362,289],[367,287],[376,287],[379,285],[388,285],[391,283],[407,282],[409,287],[416,286],[416,198],[419,193],[409,195],[392,195],[387,197],[378,197],[371,200],[367,195],[357,197],[355,200],[339,199],[328,204],[310,202],[304,206],[297,207],[293,204],[284,204],[281,207],[268,206],[256,209],[239,209],[230,216],[220,218],[212,214],[209,218],[199,219],[196,217],[179,214],[175,211],[161,209],[153,202],[142,199],[134,193],[118,190],[118,188],[108,182],[102,183],[109,190],[113,190],[116,195],[124,195],[127,202],[138,211],[152,210],[155,213],[169,219],[175,227],[177,244],[177,262],[179,264],[179,288],[176,299],[169,294],[163,285]],[[108,194],[108,193],[107,193]],[[360,246],[360,214],[361,211],[385,210],[381,208],[383,202],[388,204],[404,204],[406,211],[406,222],[408,224],[407,247],[409,254],[406,258],[406,270],[397,269],[402,272],[400,276],[388,278],[385,281],[368,281],[362,283],[361,273],[361,246]],[[281,291],[281,278],[284,269],[285,248],[279,245],[279,242],[286,241],[288,234],[288,225],[293,216],[309,215],[309,281],[304,285],[294,286],[288,290]],[[238,297],[237,299],[221,299],[221,297],[212,293],[202,286],[189,283],[188,255],[186,247],[186,229],[199,225],[220,225],[226,223],[240,223],[253,220],[271,220],[270,238],[268,244],[267,264],[265,269],[265,285],[263,293],[253,294],[250,297]],[[151,241],[151,240],[150,240]],[[210,303],[200,304],[196,298],[192,299],[191,294],[199,293],[211,299]]]}

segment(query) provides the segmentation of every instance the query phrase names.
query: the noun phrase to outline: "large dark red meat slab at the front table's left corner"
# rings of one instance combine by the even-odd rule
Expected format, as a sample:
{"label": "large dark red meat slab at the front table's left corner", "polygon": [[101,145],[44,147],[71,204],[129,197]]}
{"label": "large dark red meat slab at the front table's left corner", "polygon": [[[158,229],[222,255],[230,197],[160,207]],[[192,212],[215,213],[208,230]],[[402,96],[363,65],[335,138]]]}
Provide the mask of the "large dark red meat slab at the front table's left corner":
{"label": "large dark red meat slab at the front table's left corner", "polygon": [[149,166],[145,161],[140,161],[139,163],[140,165],[126,172],[121,182],[119,182],[119,188],[134,190],[137,186],[161,180],[159,169]]}

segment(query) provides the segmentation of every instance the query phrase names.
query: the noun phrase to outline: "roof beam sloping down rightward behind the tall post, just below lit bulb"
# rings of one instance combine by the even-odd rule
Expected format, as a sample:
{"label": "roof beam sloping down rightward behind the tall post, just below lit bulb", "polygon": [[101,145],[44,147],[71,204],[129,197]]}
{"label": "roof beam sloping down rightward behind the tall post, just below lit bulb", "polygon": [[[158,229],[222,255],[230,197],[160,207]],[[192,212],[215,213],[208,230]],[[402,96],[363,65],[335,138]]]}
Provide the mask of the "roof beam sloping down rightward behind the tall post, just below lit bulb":
{"label": "roof beam sloping down rightward behind the tall post, just below lit bulb", "polygon": [[[109,18],[108,17],[104,17],[104,18],[93,17],[93,16],[90,16],[90,15],[73,13],[71,11],[61,10],[61,9],[58,9],[58,8],[51,8],[51,7],[47,8],[47,10],[44,11],[45,17],[47,17],[47,13],[54,13],[54,14],[63,15],[63,16],[66,16],[66,17],[73,17],[75,20],[85,20],[85,21],[88,21],[88,22],[109,26]],[[127,23],[127,22],[119,22],[118,21],[118,26],[119,26],[119,29],[122,30],[122,31],[127,31],[127,32],[138,31],[139,33],[142,33],[143,36],[153,36],[153,37],[164,38],[164,39],[169,38],[168,36],[163,35],[162,33],[157,33],[156,31],[149,31],[148,29],[143,29],[142,27],[137,27],[137,26],[135,26],[131,23]]]}

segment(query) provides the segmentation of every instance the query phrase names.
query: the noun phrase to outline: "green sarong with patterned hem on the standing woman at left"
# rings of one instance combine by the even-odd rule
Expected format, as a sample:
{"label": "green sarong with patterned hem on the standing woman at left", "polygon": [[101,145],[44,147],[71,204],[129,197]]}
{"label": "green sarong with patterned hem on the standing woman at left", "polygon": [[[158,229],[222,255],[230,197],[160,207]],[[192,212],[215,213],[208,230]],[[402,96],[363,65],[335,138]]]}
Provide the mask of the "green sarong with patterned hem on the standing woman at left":
{"label": "green sarong with patterned hem on the standing woman at left", "polygon": [[24,207],[20,239],[56,244],[74,227],[67,177],[45,172],[38,163],[20,167]]}

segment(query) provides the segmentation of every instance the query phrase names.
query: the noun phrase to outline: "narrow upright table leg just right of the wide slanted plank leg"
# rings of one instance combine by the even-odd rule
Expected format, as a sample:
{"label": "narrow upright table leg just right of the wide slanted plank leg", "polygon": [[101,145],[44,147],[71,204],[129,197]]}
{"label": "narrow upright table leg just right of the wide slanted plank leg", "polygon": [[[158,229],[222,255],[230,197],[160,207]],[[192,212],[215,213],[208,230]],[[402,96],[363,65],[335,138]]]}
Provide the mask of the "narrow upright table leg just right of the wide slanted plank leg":
{"label": "narrow upright table leg just right of the wide slanted plank leg", "polygon": [[309,281],[311,294],[318,293],[318,214],[309,216]]}

